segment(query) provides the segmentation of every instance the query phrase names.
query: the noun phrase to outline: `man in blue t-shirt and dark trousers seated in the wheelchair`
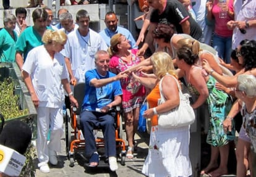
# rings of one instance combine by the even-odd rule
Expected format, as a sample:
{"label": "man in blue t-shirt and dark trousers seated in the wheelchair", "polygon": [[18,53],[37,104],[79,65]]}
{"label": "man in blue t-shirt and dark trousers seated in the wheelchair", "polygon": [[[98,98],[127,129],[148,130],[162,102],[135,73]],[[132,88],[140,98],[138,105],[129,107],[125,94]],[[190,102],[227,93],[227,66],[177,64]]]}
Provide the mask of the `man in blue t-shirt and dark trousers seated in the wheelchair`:
{"label": "man in blue t-shirt and dark trousers seated in the wheelchair", "polygon": [[85,97],[80,113],[80,126],[85,138],[85,155],[90,159],[89,167],[98,166],[100,159],[93,129],[102,129],[105,156],[108,157],[110,170],[116,171],[118,168],[114,126],[116,112],[112,109],[121,104],[122,89],[119,80],[127,78],[127,75],[123,73],[115,75],[108,71],[109,54],[106,51],[96,52],[95,67],[85,73]]}

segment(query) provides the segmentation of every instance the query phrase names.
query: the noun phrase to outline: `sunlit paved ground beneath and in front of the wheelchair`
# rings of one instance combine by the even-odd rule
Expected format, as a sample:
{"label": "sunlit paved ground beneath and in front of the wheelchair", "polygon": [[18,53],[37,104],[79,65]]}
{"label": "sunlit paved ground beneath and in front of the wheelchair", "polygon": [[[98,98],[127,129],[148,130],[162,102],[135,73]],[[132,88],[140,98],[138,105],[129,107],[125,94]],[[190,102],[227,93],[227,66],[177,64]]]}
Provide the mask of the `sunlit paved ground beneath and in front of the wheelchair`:
{"label": "sunlit paved ground beneath and in front of the wheelchair", "polygon": [[143,162],[145,157],[147,157],[148,151],[148,139],[149,136],[145,134],[136,134],[135,140],[138,142],[137,151],[135,152],[135,158],[129,160],[126,158],[126,165],[122,166],[120,158],[117,159],[119,169],[116,172],[112,172],[108,167],[97,167],[93,170],[85,168],[84,163],[86,162],[80,155],[77,155],[77,160],[74,167],[69,167],[69,160],[66,157],[66,142],[62,139],[62,152],[59,154],[59,164],[56,167],[50,167],[50,173],[41,173],[39,169],[36,169],[37,177],[48,177],[48,176],[58,176],[58,177],[68,177],[68,176],[144,176],[141,171],[143,167]]}

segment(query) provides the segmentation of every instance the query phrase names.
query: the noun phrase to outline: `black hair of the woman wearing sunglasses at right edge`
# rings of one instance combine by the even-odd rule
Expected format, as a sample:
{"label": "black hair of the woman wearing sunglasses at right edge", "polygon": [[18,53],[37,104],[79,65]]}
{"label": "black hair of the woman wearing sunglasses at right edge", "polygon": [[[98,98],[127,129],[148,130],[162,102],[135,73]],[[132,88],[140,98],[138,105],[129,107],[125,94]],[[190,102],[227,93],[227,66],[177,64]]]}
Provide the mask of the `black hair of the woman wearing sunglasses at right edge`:
{"label": "black hair of the woman wearing sunglasses at right edge", "polygon": [[256,68],[256,41],[251,40],[242,44],[240,52],[244,59],[245,72]]}

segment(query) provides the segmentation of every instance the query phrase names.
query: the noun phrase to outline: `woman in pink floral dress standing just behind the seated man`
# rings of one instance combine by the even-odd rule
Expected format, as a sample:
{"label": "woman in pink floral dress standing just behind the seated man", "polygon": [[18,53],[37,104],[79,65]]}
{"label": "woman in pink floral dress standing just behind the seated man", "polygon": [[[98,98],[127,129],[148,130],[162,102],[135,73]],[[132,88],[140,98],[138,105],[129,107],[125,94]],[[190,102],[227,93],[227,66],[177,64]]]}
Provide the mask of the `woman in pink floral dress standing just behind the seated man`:
{"label": "woman in pink floral dress standing just behind the seated man", "polygon": [[[131,49],[126,36],[116,34],[110,40],[109,54],[111,60],[109,69],[113,73],[120,73],[140,63],[141,58],[136,56],[138,49]],[[135,73],[142,76],[141,72]],[[121,79],[122,109],[126,123],[126,137],[128,141],[127,158],[133,158],[134,134],[139,121],[140,105],[145,96],[145,88],[138,81],[132,80],[132,73],[128,78]]]}

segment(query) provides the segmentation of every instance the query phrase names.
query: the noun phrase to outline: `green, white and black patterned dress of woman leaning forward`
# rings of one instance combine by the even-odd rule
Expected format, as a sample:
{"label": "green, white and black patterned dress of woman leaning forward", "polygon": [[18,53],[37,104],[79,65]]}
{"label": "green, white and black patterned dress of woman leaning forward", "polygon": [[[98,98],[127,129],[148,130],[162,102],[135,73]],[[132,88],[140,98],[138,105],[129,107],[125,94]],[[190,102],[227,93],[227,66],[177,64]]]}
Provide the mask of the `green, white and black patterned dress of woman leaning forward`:
{"label": "green, white and black patterned dress of woman leaning forward", "polygon": [[[224,146],[235,138],[234,126],[228,134],[224,133],[223,121],[232,106],[231,98],[228,94],[215,88],[216,80],[212,76],[207,81],[209,96],[207,98],[208,110],[210,113],[210,123],[207,134],[207,143],[214,147]],[[191,93],[198,94],[198,91],[188,84]],[[234,122],[233,122],[234,125]]]}

